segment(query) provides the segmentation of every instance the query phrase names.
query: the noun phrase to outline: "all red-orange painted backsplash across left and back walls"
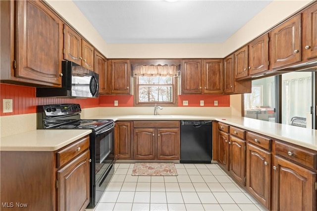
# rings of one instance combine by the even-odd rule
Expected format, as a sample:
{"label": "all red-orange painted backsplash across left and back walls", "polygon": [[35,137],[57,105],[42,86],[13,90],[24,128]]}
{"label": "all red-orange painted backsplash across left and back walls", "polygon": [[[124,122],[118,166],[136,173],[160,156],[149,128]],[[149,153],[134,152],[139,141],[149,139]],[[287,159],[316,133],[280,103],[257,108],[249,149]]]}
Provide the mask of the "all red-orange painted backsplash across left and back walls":
{"label": "all red-orange painted backsplash across left and back walls", "polygon": [[[2,99],[13,100],[13,112],[2,112]],[[200,101],[205,107],[213,107],[213,101],[218,101],[218,107],[229,107],[229,95],[179,95],[178,106],[183,106],[183,101],[188,101],[189,107],[200,107]],[[133,107],[133,95],[100,95],[99,98],[63,99],[63,98],[37,98],[36,88],[0,83],[0,116],[36,113],[36,106],[48,104],[80,104],[82,108],[89,107]]]}

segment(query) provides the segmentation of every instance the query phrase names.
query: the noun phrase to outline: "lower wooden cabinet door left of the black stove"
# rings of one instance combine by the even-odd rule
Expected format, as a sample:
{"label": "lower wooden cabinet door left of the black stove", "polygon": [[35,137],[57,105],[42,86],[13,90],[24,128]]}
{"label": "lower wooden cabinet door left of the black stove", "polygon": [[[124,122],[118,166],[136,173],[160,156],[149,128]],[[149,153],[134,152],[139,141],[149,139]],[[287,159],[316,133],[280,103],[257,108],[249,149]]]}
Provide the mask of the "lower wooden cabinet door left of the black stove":
{"label": "lower wooden cabinet door left of the black stove", "polygon": [[89,204],[89,150],[57,171],[57,210],[84,211]]}

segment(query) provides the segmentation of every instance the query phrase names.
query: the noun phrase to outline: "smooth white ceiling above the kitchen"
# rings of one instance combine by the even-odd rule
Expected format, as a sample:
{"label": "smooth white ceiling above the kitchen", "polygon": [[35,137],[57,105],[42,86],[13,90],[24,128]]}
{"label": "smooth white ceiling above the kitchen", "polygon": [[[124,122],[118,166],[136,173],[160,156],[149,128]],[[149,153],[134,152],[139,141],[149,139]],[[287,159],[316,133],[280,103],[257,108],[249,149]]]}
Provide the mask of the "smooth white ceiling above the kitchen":
{"label": "smooth white ceiling above the kitchen", "polygon": [[271,0],[74,0],[106,43],[223,43]]}

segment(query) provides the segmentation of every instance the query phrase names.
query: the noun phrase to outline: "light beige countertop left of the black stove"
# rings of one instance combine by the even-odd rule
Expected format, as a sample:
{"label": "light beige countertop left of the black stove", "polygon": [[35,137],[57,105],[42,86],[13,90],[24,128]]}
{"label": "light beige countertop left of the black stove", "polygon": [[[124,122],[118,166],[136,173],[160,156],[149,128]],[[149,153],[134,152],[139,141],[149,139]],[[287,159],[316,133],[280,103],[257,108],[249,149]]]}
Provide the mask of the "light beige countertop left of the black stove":
{"label": "light beige countertop left of the black stove", "polygon": [[92,130],[32,130],[0,139],[1,151],[55,151]]}

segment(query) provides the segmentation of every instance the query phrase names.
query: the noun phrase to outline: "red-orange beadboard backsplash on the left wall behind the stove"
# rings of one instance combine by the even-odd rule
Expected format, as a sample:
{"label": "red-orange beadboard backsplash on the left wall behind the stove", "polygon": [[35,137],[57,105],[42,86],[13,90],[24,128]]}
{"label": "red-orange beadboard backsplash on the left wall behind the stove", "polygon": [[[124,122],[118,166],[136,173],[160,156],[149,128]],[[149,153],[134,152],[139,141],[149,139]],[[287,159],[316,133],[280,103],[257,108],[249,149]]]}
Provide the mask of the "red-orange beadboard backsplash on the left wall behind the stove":
{"label": "red-orange beadboard backsplash on the left wall behind the stove", "polygon": [[[13,112],[2,112],[2,99],[13,100]],[[82,108],[98,107],[98,98],[89,99],[63,99],[63,98],[37,98],[36,88],[27,86],[18,86],[11,84],[0,84],[0,115],[17,115],[26,113],[36,113],[36,106],[47,104],[74,103],[80,104]]]}

